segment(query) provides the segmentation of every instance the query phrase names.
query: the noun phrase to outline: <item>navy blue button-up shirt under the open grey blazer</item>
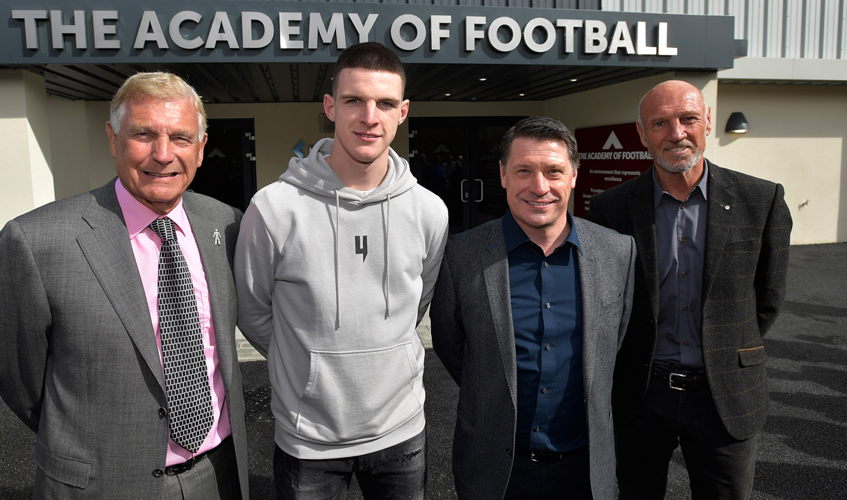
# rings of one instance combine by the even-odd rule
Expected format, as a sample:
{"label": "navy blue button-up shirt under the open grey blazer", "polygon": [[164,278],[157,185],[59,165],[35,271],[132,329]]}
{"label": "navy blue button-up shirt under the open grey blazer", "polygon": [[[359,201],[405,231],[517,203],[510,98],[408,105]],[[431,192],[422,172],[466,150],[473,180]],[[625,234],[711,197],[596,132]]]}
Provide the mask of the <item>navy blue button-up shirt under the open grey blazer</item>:
{"label": "navy blue button-up shirt under the open grey blazer", "polygon": [[515,443],[534,451],[567,452],[588,446],[583,390],[583,310],[571,231],[550,256],[512,217],[503,216],[518,366]]}

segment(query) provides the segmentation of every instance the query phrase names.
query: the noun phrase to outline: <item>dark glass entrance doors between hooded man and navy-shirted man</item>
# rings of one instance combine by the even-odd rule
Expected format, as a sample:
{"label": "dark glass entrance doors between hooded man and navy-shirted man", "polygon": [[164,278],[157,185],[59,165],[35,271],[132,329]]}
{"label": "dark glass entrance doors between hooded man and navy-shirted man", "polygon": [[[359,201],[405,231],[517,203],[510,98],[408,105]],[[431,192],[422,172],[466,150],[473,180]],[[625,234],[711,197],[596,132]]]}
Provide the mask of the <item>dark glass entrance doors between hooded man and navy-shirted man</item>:
{"label": "dark glass entrance doors between hooded man and navy-shirted man", "polygon": [[500,184],[500,141],[522,118],[410,119],[412,173],[446,203],[451,234],[506,213],[506,191]]}

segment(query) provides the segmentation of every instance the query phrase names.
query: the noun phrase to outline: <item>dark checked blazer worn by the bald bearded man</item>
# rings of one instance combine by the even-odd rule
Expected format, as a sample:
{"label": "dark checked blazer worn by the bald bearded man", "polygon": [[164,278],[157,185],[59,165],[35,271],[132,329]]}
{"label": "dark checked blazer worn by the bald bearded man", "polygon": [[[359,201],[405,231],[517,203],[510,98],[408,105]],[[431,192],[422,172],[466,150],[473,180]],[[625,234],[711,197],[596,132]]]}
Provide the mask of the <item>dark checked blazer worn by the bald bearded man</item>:
{"label": "dark checked blazer worn by the bald bearded man", "polygon": [[[655,168],[655,167],[653,167]],[[635,304],[617,356],[617,423],[640,408],[656,351],[659,272],[652,169],[591,198],[589,219],[635,237]],[[709,163],[701,342],[711,395],[735,439],[767,417],[765,347],[785,294],[791,214],[783,186]]]}

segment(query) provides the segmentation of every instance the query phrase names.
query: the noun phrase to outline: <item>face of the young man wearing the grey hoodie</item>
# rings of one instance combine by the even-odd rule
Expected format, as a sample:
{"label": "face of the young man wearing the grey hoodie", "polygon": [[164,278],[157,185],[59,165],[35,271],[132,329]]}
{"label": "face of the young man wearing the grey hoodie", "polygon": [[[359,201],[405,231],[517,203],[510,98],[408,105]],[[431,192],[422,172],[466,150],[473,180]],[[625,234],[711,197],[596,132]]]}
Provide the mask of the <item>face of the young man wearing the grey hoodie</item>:
{"label": "face of the young man wearing the grey hoodie", "polygon": [[388,169],[388,147],[409,111],[401,76],[345,68],[335,88],[335,96],[324,96],[324,111],[335,122],[331,164],[334,168],[376,164]]}

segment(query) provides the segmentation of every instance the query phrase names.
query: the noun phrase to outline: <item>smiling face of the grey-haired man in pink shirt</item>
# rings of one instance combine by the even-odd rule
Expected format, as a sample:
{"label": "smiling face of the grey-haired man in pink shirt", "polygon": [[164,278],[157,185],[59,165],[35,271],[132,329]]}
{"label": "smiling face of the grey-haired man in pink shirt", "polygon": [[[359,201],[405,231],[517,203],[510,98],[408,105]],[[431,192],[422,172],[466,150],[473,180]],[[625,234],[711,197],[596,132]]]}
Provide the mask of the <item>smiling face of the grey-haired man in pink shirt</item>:
{"label": "smiling face of the grey-haired man in pink shirt", "polygon": [[188,98],[133,97],[116,134],[106,124],[121,184],[157,214],[168,214],[203,160],[206,133]]}

